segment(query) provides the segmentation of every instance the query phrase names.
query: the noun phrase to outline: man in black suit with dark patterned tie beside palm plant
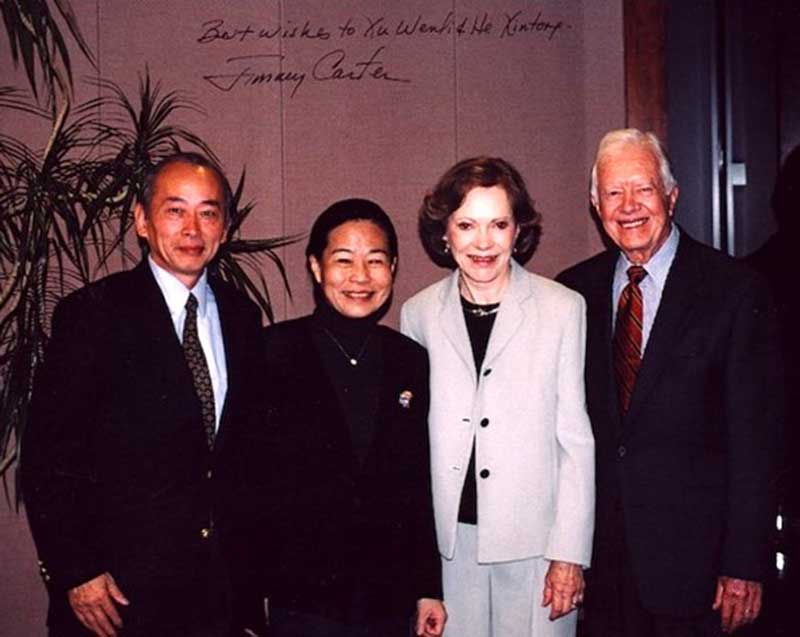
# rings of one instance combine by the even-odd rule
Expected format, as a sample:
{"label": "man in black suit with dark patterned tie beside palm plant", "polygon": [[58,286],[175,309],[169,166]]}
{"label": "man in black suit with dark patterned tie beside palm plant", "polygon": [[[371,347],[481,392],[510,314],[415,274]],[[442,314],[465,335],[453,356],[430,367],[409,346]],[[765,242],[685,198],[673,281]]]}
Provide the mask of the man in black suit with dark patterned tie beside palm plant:
{"label": "man in black suit with dark patterned tie beside palm plant", "polygon": [[[237,544],[237,441],[256,404],[260,316],[206,270],[231,205],[214,164],[173,155],[141,200],[149,257],[59,303],[35,384],[22,484],[48,626],[59,637],[242,634],[231,618],[246,582],[223,555]],[[189,338],[206,361],[205,401]]]}

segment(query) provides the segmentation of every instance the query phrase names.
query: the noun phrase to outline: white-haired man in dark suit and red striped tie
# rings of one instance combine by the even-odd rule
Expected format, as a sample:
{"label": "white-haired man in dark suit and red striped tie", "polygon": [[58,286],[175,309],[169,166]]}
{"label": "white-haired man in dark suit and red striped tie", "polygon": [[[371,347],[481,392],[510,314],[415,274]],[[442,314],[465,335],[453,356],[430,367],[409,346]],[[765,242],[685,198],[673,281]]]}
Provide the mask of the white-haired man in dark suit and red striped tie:
{"label": "white-haired man in dark suit and red striped tie", "polygon": [[658,139],[600,142],[592,204],[612,249],[559,280],[587,302],[597,452],[590,637],[710,636],[761,606],[780,419],[762,281],[673,223]]}

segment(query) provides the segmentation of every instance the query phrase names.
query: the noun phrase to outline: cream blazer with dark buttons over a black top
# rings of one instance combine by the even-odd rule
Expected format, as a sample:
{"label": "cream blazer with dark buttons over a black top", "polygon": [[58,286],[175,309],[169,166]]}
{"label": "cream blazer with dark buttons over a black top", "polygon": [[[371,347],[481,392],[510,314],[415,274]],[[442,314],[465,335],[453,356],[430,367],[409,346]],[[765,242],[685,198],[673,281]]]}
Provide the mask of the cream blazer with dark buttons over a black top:
{"label": "cream blazer with dark buttons over a black top", "polygon": [[445,558],[455,550],[474,438],[478,561],[543,556],[589,565],[594,438],[584,395],[585,316],[579,294],[512,263],[476,375],[457,272],[403,305],[402,332],[430,357],[433,504]]}

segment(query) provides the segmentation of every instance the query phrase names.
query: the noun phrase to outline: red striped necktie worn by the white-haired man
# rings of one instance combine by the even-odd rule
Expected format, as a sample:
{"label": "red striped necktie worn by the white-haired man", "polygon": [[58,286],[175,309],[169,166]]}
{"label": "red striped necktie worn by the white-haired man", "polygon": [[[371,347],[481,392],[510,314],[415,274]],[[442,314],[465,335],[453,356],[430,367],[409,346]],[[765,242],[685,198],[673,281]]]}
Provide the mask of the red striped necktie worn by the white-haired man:
{"label": "red striped necktie worn by the white-haired man", "polygon": [[639,283],[647,276],[640,265],[628,268],[628,285],[622,290],[614,328],[614,372],[623,415],[631,402],[636,375],[642,364],[642,290]]}

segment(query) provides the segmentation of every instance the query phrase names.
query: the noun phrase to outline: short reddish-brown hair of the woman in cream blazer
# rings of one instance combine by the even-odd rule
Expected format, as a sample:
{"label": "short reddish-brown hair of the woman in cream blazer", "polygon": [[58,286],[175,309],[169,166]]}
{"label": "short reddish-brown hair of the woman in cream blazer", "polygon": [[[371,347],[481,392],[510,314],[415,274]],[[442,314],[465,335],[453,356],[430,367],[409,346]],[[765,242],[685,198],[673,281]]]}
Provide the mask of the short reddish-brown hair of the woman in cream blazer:
{"label": "short reddish-brown hair of the woman in cream blazer", "polygon": [[419,235],[431,260],[454,269],[456,262],[445,249],[447,220],[473,188],[500,186],[505,190],[519,234],[514,242],[514,259],[525,264],[533,256],[542,234],[542,216],[533,207],[525,181],[516,168],[500,157],[471,157],[458,162],[442,175],[425,195],[419,210]]}

